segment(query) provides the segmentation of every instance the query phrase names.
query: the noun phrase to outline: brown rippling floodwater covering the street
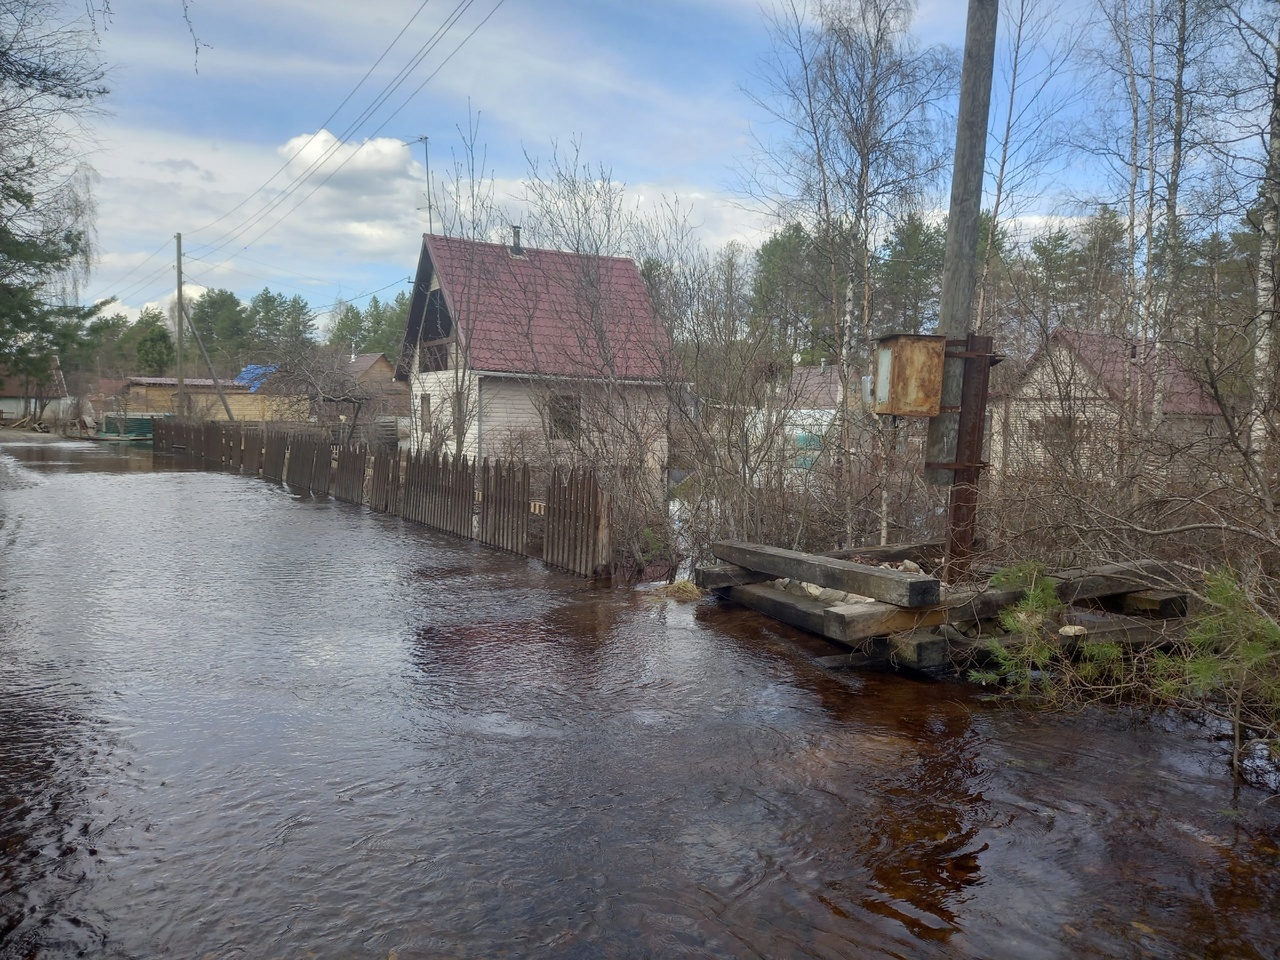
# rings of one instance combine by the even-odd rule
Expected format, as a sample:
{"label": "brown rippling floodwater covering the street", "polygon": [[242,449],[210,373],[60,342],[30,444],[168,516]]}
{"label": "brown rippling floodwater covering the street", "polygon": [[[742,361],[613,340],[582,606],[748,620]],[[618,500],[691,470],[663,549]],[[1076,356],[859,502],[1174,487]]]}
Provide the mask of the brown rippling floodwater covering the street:
{"label": "brown rippling floodwater covering the street", "polygon": [[0,438],[0,957],[1276,957],[1169,723],[815,667],[147,447]]}

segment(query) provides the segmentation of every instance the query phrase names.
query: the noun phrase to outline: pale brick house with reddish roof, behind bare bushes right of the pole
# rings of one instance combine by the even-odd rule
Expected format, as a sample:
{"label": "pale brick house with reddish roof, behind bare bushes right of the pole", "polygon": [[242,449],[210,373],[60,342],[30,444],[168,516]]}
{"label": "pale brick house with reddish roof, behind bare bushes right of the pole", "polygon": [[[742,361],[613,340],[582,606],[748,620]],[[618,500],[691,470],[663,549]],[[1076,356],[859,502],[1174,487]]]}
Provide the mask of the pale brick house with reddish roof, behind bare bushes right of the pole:
{"label": "pale brick house with reddish roof, behind bare bushes right of the pole", "polygon": [[997,472],[1120,477],[1140,462],[1181,476],[1215,462],[1226,436],[1221,408],[1169,344],[1066,326],[991,410]]}

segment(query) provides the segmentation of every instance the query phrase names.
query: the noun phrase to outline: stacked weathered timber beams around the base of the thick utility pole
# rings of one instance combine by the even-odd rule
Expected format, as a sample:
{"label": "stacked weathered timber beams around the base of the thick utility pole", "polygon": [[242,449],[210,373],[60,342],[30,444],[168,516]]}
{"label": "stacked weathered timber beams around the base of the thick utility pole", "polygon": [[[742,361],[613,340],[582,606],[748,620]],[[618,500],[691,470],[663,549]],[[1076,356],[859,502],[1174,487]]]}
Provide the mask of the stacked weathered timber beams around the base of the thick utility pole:
{"label": "stacked weathered timber beams around the base of the thick utility pole", "polygon": [[[722,563],[698,567],[698,586],[823,636],[847,653],[827,667],[902,664],[945,671],[982,646],[984,623],[1025,595],[989,584],[948,588],[925,573],[942,541],[799,553],[736,540],[713,544]],[[1079,639],[1149,639],[1187,613],[1185,594],[1166,590],[1170,571],[1140,561],[1051,572]]]}

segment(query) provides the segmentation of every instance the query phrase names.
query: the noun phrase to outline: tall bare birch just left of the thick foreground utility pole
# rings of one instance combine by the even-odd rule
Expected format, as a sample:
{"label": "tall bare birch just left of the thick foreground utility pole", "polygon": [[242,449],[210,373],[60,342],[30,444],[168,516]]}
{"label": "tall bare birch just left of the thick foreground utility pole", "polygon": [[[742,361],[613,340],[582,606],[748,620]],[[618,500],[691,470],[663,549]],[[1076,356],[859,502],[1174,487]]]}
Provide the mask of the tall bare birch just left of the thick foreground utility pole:
{"label": "tall bare birch just left of the thick foreground utility pole", "polygon": [[[771,18],[767,90],[755,97],[783,136],[762,145],[751,189],[772,200],[783,219],[809,225],[822,251],[850,461],[868,426],[873,456],[886,452],[874,419],[856,415],[856,385],[872,362],[873,252],[892,219],[914,210],[943,168],[943,108],[957,77],[950,51],[915,44],[914,13],[908,0],[791,0]],[[846,490],[849,540],[852,484]],[[883,504],[882,539],[887,522]]]}

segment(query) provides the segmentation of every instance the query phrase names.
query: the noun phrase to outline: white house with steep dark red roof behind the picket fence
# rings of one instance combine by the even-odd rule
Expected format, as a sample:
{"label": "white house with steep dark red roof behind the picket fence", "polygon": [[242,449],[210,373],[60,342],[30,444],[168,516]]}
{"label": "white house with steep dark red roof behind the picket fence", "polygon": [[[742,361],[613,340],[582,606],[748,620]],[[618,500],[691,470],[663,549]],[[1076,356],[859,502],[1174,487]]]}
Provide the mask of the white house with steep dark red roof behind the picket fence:
{"label": "white house with steep dark red roof behind the picket fence", "polygon": [[635,261],[422,237],[397,369],[413,449],[660,470],[673,371]]}

